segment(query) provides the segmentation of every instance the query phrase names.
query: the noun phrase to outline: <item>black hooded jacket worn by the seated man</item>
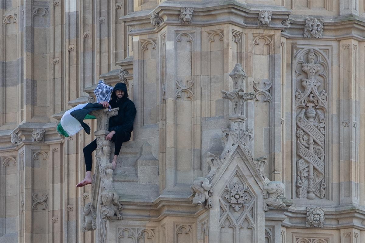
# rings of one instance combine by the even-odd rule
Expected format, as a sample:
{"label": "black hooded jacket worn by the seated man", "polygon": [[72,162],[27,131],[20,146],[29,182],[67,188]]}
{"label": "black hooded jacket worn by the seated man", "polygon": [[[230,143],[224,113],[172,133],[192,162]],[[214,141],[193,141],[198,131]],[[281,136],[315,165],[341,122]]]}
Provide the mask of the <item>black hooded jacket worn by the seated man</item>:
{"label": "black hooded jacket worn by the seated man", "polygon": [[[122,99],[118,100],[115,94],[116,90],[124,91]],[[133,101],[128,99],[127,86],[125,83],[117,83],[115,85],[109,104],[112,108],[119,107],[118,115],[109,119],[109,132],[114,130],[119,134],[126,133],[125,135],[130,137],[131,132],[133,131],[133,122],[137,110]]]}

